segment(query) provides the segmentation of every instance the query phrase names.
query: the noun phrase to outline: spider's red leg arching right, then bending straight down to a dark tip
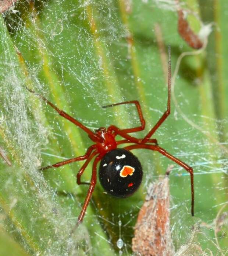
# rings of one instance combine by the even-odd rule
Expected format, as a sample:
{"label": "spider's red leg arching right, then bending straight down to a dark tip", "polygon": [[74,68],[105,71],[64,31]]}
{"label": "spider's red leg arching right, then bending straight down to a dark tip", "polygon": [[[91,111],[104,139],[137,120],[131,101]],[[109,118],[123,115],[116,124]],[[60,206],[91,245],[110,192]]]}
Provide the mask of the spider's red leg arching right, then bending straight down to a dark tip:
{"label": "spider's red leg arching right, then bending straight down to a dark tip", "polygon": [[177,163],[178,165],[182,166],[187,172],[190,173],[191,194],[192,194],[192,216],[194,216],[194,181],[193,181],[193,169],[192,169],[192,167],[186,165],[186,163],[182,162],[178,158],[175,158],[174,156],[170,155],[170,153],[166,152],[165,149],[163,149],[159,146],[156,146],[156,145],[149,145],[149,144],[131,145],[131,146],[125,147],[124,149],[132,150],[132,149],[139,149],[139,148],[145,148],[145,149],[151,149],[151,150],[154,150],[154,151],[158,151],[161,154],[163,154],[164,156],[166,156],[167,158],[169,158],[172,161],[174,161],[175,163]]}

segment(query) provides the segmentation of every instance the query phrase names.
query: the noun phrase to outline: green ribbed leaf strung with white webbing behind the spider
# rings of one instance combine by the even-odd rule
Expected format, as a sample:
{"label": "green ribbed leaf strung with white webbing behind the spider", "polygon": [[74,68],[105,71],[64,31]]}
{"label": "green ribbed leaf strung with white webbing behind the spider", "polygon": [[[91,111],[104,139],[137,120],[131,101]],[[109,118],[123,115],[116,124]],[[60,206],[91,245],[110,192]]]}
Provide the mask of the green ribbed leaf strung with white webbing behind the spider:
{"label": "green ribbed leaf strung with white webbing behind the spider", "polygon": [[[133,151],[144,176],[132,197],[108,196],[98,181],[83,224],[73,235],[69,233],[88,190],[75,180],[82,163],[38,172],[39,166],[83,155],[92,142],[25,86],[93,130],[111,124],[137,126],[134,106],[101,106],[139,100],[146,129],[133,135],[142,138],[167,104],[167,64],[161,58],[167,48],[161,54],[157,41],[171,45],[172,70],[182,52],[193,52],[177,32],[179,6],[198,15],[204,10],[203,5],[177,5],[177,1],[19,1],[3,15],[0,146],[12,166],[0,159],[0,231],[10,234],[26,252],[131,255],[147,188],[174,165],[169,181],[170,229],[177,255],[193,255],[193,245],[205,255],[210,251],[225,255],[228,107],[220,99],[227,88],[215,93],[217,73],[206,65],[205,49],[185,56],[177,72],[172,71],[171,115],[153,136],[193,167],[194,218],[189,174],[158,152]],[[192,15],[190,24],[200,29],[197,17]],[[210,54],[213,59],[217,53]],[[90,180],[91,167],[83,180]]]}

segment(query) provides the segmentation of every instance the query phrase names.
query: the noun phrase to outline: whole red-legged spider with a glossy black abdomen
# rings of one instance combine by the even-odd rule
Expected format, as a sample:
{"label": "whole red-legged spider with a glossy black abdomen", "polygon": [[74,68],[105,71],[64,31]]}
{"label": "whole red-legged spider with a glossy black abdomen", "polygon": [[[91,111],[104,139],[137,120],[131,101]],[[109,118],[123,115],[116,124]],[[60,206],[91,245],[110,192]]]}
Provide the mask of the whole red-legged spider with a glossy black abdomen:
{"label": "whole red-legged spider with a glossy black abdomen", "polygon": [[[41,168],[40,170],[46,170],[52,167],[60,167],[66,165],[68,163],[86,160],[81,169],[79,170],[77,177],[77,184],[89,184],[89,190],[87,196],[85,198],[85,202],[82,206],[81,212],[78,216],[78,224],[82,222],[83,217],[86,212],[86,208],[90,202],[90,199],[93,194],[93,190],[96,186],[97,182],[97,164],[100,161],[99,167],[99,179],[100,183],[103,186],[104,190],[107,191],[108,194],[111,194],[116,197],[128,197],[131,196],[139,187],[142,181],[142,166],[138,160],[138,158],[133,155],[130,151],[132,149],[150,149],[153,151],[158,151],[163,154],[167,158],[171,159],[178,165],[184,167],[184,169],[190,173],[190,181],[191,181],[191,194],[192,194],[192,216],[194,215],[194,187],[193,187],[193,169],[188,166],[186,163],[182,162],[178,158],[175,158],[170,153],[165,151],[165,149],[158,146],[156,139],[151,139],[151,136],[154,132],[157,131],[158,127],[165,121],[165,119],[170,114],[170,88],[171,88],[171,53],[170,46],[168,46],[168,102],[167,102],[167,110],[164,112],[162,117],[157,121],[156,125],[148,134],[142,138],[137,139],[133,136],[130,136],[129,133],[138,132],[145,129],[145,120],[143,118],[142,110],[140,104],[137,100],[132,101],[124,101],[121,103],[111,104],[104,106],[114,107],[117,105],[123,104],[135,104],[139,120],[141,125],[139,127],[120,129],[115,125],[110,125],[108,128],[100,127],[95,132],[91,131],[89,128],[85,127],[81,122],[71,117],[63,110],[57,108],[54,104],[52,104],[49,100],[44,98],[43,96],[39,96],[42,98],[47,104],[49,104],[54,110],[58,112],[59,115],[66,118],[76,126],[80,127],[83,131],[85,131],[89,138],[94,142],[92,146],[90,146],[85,155],[78,156],[76,158],[68,159],[62,162],[55,163],[50,166],[46,166]],[[28,89],[30,92],[35,93],[34,91]],[[115,136],[120,135],[123,139],[120,141],[115,140]],[[126,146],[124,148],[117,148],[119,145],[123,143],[133,143],[133,145]],[[81,176],[88,166],[89,162],[93,160],[92,167],[92,177],[90,183],[81,182]]]}

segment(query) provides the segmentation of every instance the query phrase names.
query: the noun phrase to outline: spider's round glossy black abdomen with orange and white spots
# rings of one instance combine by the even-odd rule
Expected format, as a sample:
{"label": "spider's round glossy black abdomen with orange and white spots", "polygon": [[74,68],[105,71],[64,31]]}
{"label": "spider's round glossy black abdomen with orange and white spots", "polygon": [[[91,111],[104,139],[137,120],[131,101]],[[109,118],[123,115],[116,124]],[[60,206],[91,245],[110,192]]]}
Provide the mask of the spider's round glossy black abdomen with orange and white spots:
{"label": "spider's round glossy black abdomen with orange and white spots", "polygon": [[113,196],[131,196],[138,189],[142,175],[138,158],[125,149],[114,149],[101,159],[100,183]]}

